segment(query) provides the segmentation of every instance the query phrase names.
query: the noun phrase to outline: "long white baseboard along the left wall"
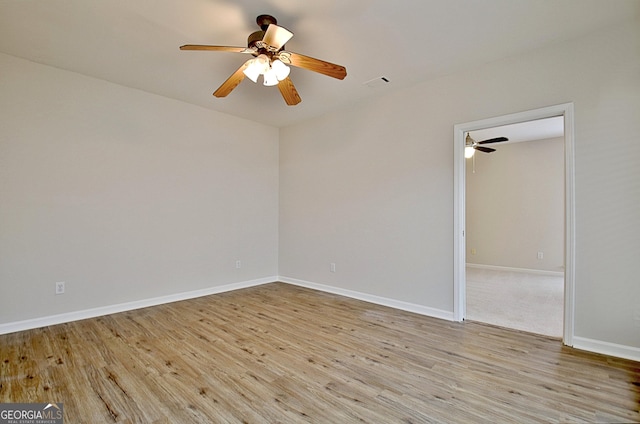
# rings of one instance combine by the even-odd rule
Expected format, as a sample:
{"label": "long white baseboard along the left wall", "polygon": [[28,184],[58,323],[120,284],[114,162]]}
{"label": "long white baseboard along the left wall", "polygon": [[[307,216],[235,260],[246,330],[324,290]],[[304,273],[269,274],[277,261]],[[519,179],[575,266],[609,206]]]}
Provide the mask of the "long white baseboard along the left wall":
{"label": "long white baseboard along the left wall", "polygon": [[136,300],[133,302],[119,303],[116,305],[101,306],[98,308],[85,309],[82,311],[67,312],[59,315],[51,315],[42,318],[34,318],[24,321],[0,324],[0,334],[15,333],[16,331],[31,330],[34,328],[47,327],[49,325],[64,324],[66,322],[80,321],[87,318],[95,318],[119,312],[132,311],[134,309],[148,308],[150,306],[163,305],[166,303],[179,302],[181,300],[194,299],[202,296],[209,296],[233,290],[239,290],[262,284],[277,281],[278,277],[260,278],[257,280],[242,281],[239,283],[225,284],[222,286],[209,287],[202,290],[194,290],[183,293],[175,293],[167,296],[159,296],[151,299]]}

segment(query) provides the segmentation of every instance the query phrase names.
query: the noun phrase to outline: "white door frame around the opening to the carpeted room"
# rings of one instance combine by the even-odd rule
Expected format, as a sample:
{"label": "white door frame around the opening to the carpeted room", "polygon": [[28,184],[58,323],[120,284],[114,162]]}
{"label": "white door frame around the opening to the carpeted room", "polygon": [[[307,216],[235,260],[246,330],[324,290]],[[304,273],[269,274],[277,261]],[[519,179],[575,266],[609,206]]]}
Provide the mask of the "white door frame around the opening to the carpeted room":
{"label": "white door frame around the opening to the carpeted room", "polygon": [[494,118],[457,124],[454,139],[454,269],[453,317],[463,321],[466,317],[466,242],[465,242],[465,133],[501,125],[516,124],[536,119],[564,116],[564,172],[565,172],[565,272],[564,272],[564,336],[566,345],[573,345],[575,296],[575,194],[574,194],[574,131],[573,103],[564,103]]}

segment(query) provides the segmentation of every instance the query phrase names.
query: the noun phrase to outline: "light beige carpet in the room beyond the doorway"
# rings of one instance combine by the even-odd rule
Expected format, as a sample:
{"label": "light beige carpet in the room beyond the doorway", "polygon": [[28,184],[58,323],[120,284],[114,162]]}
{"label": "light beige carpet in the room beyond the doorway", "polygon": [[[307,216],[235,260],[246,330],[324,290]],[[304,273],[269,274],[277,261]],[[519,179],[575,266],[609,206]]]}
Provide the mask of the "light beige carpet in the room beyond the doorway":
{"label": "light beige carpet in the room beyond the doorway", "polygon": [[467,267],[467,317],[562,337],[564,277]]}

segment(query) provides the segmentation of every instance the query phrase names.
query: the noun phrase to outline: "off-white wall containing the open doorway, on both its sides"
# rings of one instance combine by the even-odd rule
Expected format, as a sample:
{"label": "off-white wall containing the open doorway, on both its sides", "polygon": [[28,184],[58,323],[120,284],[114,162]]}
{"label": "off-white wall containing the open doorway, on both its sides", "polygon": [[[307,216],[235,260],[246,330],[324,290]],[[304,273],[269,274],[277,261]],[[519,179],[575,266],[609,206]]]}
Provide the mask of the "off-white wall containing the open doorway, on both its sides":
{"label": "off-white wall containing the open doorway, on both its sides", "polygon": [[566,102],[575,335],[640,357],[637,17],[281,130],[280,275],[453,311],[453,126]]}

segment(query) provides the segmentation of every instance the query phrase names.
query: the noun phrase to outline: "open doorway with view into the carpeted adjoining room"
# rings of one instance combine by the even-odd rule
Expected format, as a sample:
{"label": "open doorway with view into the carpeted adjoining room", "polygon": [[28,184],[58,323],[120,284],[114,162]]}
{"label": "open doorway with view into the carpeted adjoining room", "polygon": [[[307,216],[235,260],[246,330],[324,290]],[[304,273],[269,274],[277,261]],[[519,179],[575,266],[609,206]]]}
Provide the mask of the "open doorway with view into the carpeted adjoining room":
{"label": "open doorway with view into the carpeted adjoining room", "polygon": [[561,338],[564,117],[467,136],[466,319]]}

